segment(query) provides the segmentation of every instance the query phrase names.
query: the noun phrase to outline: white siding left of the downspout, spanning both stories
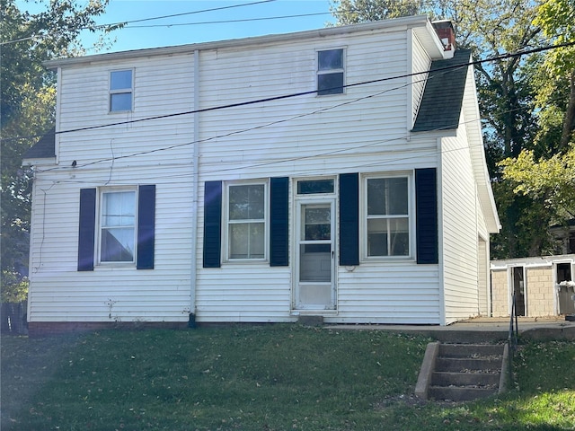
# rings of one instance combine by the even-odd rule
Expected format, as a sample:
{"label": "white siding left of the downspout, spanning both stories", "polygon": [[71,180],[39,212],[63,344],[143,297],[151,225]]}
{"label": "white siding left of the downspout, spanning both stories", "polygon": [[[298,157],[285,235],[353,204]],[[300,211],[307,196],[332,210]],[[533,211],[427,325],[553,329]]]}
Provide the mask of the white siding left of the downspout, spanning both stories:
{"label": "white siding left of the downspout, spanning both stories", "polygon": [[[137,111],[116,112],[111,121],[110,71],[128,68],[137,70]],[[191,55],[63,68],[58,129],[188,111],[193,69]],[[190,116],[182,118],[57,135],[59,170],[38,172],[34,180],[30,321],[188,321],[194,133]],[[156,185],[154,269],[106,264],[79,272],[79,189],[126,189],[151,181]],[[99,213],[96,221],[100,224]]]}

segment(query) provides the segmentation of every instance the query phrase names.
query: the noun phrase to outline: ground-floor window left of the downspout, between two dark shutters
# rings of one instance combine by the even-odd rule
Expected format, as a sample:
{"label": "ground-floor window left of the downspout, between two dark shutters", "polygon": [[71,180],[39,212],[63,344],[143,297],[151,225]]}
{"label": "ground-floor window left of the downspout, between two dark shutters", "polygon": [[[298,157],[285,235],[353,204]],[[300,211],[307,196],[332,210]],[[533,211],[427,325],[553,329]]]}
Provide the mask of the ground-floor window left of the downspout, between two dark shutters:
{"label": "ground-floor window left of the downspout, between two dark shutters", "polygon": [[104,191],[100,201],[100,261],[133,263],[136,258],[136,190]]}

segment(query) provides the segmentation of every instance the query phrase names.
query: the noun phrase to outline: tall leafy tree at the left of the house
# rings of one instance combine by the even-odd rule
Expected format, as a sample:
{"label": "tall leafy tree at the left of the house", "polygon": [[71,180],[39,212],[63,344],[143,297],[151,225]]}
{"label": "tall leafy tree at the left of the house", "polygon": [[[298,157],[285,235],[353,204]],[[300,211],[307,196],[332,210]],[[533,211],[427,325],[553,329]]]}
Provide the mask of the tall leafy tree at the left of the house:
{"label": "tall leafy tree at the left of the house", "polygon": [[105,46],[106,34],[118,26],[101,30],[93,17],[104,13],[107,4],[51,0],[42,12],[28,13],[14,0],[0,0],[3,289],[18,289],[28,267],[31,172],[22,169],[22,154],[54,123],[55,77],[42,62],[82,54],[79,36],[84,30],[98,32]]}

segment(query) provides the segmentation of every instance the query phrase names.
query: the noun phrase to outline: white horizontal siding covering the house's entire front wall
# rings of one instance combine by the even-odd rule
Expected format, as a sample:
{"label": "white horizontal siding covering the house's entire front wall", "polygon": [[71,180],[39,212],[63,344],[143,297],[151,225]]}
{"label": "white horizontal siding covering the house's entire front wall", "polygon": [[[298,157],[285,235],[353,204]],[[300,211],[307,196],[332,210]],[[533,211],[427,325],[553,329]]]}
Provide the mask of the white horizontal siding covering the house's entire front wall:
{"label": "white horizontal siding covering the house's entire front wall", "polygon": [[[447,166],[442,169],[437,136],[406,133],[415,105],[411,100],[419,97],[413,92],[420,94],[423,89],[411,88],[413,80],[405,76],[429,66],[429,55],[420,47],[411,48],[416,57],[408,58],[411,42],[402,24],[329,37],[318,31],[306,33],[305,38],[228,42],[219,48],[216,43],[199,44],[169,55],[146,50],[139,56],[127,53],[126,58],[111,55],[65,63],[59,71],[57,129],[77,131],[57,135],[58,169],[39,170],[34,182],[30,321],[188,321],[190,312],[200,323],[296,321],[291,310],[296,237],[293,179],[337,179],[342,173],[358,173],[363,190],[362,179],[382,172],[405,176],[414,169],[437,168],[440,181],[440,172],[458,168],[458,150],[452,159],[445,158]],[[341,47],[345,47],[345,84],[373,82],[348,87],[344,98],[316,97],[317,53]],[[134,71],[132,110],[111,115],[110,72],[128,69]],[[198,83],[194,76],[199,77]],[[263,99],[268,100],[244,103]],[[194,106],[194,101],[199,104]],[[238,106],[219,108],[234,104]],[[192,114],[195,110],[203,111]],[[115,125],[100,128],[111,123]],[[458,139],[447,142],[447,149],[460,145]],[[461,164],[465,169],[458,174],[473,175]],[[196,173],[199,181],[193,184]],[[261,248],[252,253],[251,244],[238,249],[247,250],[241,259],[229,259],[230,226],[261,224],[261,216],[231,220],[226,213],[226,185],[265,184],[264,195],[270,199],[270,178],[285,177],[290,179],[289,266],[270,266],[269,238],[263,259]],[[454,180],[448,179],[450,184],[456,184]],[[223,185],[220,268],[202,268],[205,197],[201,185],[206,181]],[[79,189],[126,189],[150,183],[156,190],[154,269],[97,265],[93,271],[78,271]],[[471,190],[470,181],[462,183],[465,192]],[[196,188],[198,196],[194,196]],[[335,180],[333,198],[337,194]],[[442,198],[447,201],[444,211],[452,210],[455,189]],[[473,194],[473,202],[462,202],[466,207],[453,217],[474,216],[474,203]],[[339,204],[336,199],[334,207]],[[266,200],[268,212],[269,205]],[[414,224],[412,209],[410,223]],[[195,244],[193,217],[198,217]],[[360,220],[366,223],[367,217]],[[270,222],[269,214],[264,215],[264,235],[270,234]],[[459,229],[462,247],[471,252],[469,229],[450,216],[444,223],[452,229],[445,235],[446,244],[451,246]],[[411,244],[415,231],[412,225],[410,229]],[[339,225],[333,233],[339,233]],[[365,236],[360,237],[362,257],[365,241]],[[190,261],[192,247],[196,247],[196,262]],[[413,249],[411,244],[411,258]],[[337,247],[334,251],[338,253]],[[459,263],[458,251],[448,257],[452,268]],[[457,268],[477,268],[473,256],[462,256],[469,261]],[[330,310],[325,321],[445,323],[442,270],[441,263],[418,265],[415,259],[367,259],[357,267],[336,264],[337,311]],[[451,307],[457,299],[452,292],[456,271],[446,274]],[[464,279],[467,287],[470,280]],[[465,301],[468,294],[464,292]]]}

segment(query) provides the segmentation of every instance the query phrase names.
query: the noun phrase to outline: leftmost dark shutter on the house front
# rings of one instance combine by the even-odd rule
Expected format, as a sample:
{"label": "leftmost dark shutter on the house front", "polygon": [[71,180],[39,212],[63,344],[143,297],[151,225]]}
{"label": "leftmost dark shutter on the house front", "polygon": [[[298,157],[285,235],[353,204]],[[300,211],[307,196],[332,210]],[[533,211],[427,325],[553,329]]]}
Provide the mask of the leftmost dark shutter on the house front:
{"label": "leftmost dark shutter on the house front", "polygon": [[78,271],[93,271],[95,226],[96,189],[80,189]]}

